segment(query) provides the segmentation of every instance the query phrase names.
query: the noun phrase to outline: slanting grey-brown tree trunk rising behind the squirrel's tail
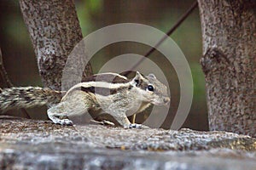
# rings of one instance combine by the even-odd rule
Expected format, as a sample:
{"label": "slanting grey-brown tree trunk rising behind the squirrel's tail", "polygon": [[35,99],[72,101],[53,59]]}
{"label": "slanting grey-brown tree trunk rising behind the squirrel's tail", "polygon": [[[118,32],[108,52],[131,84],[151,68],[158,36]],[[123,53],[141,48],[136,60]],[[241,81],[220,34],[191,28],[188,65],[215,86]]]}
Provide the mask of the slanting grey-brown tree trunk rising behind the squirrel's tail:
{"label": "slanting grey-brown tree trunk rising behind the squirrel's tail", "polygon": [[[67,56],[82,40],[73,0],[20,0],[20,8],[32,39],[44,87],[61,90]],[[91,74],[90,64],[85,76]]]}

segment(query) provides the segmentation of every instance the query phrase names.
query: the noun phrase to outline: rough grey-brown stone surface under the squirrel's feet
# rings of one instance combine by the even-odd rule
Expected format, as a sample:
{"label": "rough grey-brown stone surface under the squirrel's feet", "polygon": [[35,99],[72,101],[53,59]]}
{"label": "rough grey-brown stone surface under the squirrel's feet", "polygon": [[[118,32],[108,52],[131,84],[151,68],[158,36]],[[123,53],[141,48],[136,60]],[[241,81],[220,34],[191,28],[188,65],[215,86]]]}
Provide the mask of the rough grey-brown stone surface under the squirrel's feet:
{"label": "rough grey-brown stone surface under the squirrel's feet", "polygon": [[0,116],[1,169],[255,169],[256,139],[236,133],[65,127]]}

